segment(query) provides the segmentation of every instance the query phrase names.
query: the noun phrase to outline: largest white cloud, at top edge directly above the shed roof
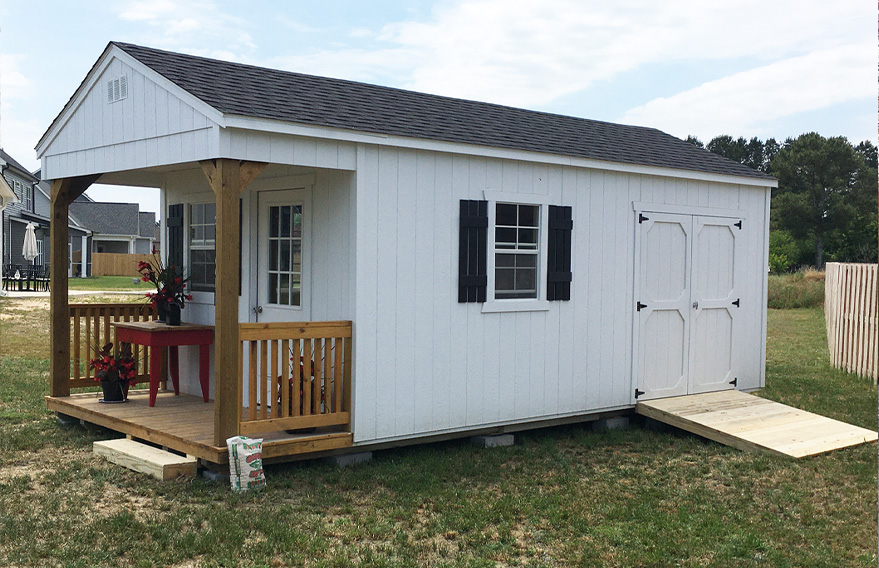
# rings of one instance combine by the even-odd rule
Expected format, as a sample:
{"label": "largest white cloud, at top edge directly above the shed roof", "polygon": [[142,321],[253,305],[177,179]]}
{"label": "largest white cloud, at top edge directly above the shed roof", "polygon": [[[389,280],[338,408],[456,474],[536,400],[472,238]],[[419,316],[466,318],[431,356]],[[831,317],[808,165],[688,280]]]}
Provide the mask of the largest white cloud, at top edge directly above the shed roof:
{"label": "largest white cloud, at top edge directly above the shed roof", "polygon": [[[286,63],[366,80],[391,71],[400,86],[419,91],[539,107],[652,63],[768,62],[850,37],[872,40],[864,15],[859,0],[462,0],[439,4],[427,21],[385,26],[373,50],[327,50]],[[383,60],[386,54],[394,59]]]}

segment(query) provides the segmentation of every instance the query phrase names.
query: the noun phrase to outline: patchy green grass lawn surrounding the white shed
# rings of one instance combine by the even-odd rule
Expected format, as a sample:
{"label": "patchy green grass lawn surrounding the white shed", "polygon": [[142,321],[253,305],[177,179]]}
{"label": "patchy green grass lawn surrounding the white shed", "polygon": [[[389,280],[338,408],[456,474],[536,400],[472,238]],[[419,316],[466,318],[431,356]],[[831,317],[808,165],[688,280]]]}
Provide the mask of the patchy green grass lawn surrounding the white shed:
{"label": "patchy green grass lawn surrounding the white shed", "polygon": [[[876,566],[876,446],[795,461],[639,425],[266,468],[268,488],[159,482],[46,412],[45,307],[0,299],[4,566]],[[47,305],[47,304],[46,304]],[[833,370],[818,309],[770,310],[760,394],[875,428],[870,381]]]}

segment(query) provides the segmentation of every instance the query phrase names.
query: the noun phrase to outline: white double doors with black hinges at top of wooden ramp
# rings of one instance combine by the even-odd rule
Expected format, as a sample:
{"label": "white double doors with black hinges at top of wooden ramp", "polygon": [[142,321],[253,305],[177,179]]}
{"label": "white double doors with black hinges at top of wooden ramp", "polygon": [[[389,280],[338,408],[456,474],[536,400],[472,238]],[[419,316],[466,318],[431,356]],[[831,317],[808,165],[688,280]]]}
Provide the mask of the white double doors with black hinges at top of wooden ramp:
{"label": "white double doors with black hinges at top of wooden ramp", "polygon": [[635,398],[734,388],[741,220],[637,215]]}

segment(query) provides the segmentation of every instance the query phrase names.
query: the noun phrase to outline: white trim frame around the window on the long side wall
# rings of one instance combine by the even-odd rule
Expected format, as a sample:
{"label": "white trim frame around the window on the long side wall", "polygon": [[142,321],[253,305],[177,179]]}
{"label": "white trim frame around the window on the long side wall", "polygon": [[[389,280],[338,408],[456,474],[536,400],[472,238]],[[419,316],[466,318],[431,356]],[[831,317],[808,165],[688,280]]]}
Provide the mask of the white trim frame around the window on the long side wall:
{"label": "white trim frame around the window on the long side wall", "polygon": [[[484,199],[488,201],[488,286],[482,313],[538,312],[548,311],[551,302],[546,299],[547,249],[549,246],[549,206],[553,204],[550,196],[537,193],[513,193],[508,191],[485,190]],[[540,207],[540,225],[537,244],[537,298],[495,298],[495,228],[498,203],[516,205],[537,205]]]}

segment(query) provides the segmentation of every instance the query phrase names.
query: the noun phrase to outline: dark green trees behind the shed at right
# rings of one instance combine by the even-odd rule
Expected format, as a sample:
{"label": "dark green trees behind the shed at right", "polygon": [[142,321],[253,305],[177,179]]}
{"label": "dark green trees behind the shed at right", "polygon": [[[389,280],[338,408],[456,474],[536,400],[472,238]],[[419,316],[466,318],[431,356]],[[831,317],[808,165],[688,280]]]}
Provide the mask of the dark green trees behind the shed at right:
{"label": "dark green trees behind the shed at right", "polygon": [[876,146],[815,132],[788,138],[687,142],[778,179],[772,190],[769,264],[773,272],[825,262],[877,262]]}

